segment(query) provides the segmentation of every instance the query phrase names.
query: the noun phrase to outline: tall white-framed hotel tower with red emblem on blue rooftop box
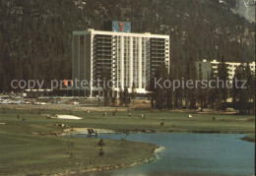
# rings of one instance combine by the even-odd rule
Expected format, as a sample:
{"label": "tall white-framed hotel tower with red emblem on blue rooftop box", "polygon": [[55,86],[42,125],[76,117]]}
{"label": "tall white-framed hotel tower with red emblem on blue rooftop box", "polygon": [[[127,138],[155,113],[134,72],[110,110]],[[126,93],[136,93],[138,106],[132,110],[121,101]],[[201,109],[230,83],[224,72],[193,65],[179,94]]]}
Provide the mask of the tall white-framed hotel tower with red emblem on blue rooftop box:
{"label": "tall white-framed hotel tower with red emblem on blue rooftop box", "polygon": [[169,36],[131,32],[131,23],[112,22],[112,31],[88,29],[73,31],[72,79],[86,80],[85,95],[97,94],[96,80],[108,74],[112,89],[133,85],[136,92],[147,92],[150,78],[157,67],[169,70]]}

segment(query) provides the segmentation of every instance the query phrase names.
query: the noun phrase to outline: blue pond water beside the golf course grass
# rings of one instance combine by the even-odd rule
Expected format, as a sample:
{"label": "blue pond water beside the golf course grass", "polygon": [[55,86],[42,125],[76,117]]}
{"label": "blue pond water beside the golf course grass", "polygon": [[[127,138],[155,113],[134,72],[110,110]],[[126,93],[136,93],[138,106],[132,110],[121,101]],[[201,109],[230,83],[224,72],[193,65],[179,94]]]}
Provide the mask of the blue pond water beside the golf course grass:
{"label": "blue pond water beside the golf course grass", "polygon": [[[254,143],[244,135],[131,134],[127,140],[164,147],[154,162],[90,175],[254,175]],[[125,135],[100,135],[117,139]]]}

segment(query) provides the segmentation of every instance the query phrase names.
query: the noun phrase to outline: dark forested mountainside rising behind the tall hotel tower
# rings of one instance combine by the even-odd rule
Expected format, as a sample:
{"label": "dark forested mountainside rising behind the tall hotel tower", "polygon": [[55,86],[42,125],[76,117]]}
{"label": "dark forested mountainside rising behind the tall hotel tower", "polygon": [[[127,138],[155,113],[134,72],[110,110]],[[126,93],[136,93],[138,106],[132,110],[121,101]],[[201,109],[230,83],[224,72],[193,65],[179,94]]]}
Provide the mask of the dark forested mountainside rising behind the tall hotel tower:
{"label": "dark forested mountainside rising behind the tall hotel tower", "polygon": [[219,0],[2,0],[0,90],[11,80],[71,78],[72,31],[130,21],[133,32],[170,35],[170,60],[252,61],[255,24]]}

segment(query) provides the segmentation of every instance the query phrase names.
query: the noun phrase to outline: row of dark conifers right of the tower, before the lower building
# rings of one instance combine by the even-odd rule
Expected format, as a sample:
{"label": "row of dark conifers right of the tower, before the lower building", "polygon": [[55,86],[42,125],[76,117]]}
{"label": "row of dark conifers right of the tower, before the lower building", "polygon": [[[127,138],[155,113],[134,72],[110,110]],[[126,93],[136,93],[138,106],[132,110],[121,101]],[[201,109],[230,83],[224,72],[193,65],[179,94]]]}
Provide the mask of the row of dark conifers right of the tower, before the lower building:
{"label": "row of dark conifers right of the tower, before the lower building", "polygon": [[[218,72],[215,73],[212,70],[211,73],[207,74],[207,83],[214,83],[211,84],[211,87],[203,87],[201,85],[203,80],[201,65],[197,70],[192,59],[188,61],[184,70],[176,74],[177,72],[168,73],[164,65],[159,67],[154,79],[163,78],[159,82],[160,87],[154,87],[156,81],[152,80],[149,88],[151,90],[152,108],[200,108],[201,110],[203,108],[213,108],[225,111],[227,107],[232,107],[240,114],[255,112],[255,73],[251,71],[248,63],[241,63],[236,67],[232,81],[229,83],[227,65],[223,56],[221,63],[218,65]],[[166,84],[164,85],[163,83],[165,79],[170,81],[178,80],[185,83],[189,80],[193,83],[200,82],[198,82],[197,88],[186,86],[173,88],[175,85],[166,88]],[[231,99],[231,102],[227,106],[228,98]]]}

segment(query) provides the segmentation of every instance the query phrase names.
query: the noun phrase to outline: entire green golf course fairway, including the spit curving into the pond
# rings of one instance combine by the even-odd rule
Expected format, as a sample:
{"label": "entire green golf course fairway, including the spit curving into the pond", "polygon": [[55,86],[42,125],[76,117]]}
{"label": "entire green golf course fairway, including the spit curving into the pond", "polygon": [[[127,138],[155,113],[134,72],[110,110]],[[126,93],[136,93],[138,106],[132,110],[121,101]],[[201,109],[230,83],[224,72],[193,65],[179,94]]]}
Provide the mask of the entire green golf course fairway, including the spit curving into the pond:
{"label": "entire green golf course fairway, including the spit curving into the pond", "polygon": [[[106,168],[141,162],[153,156],[156,146],[125,140],[104,140],[103,155],[99,139],[54,136],[69,128],[109,129],[116,132],[157,133],[254,133],[254,116],[192,114],[175,111],[54,111],[0,110],[0,173],[53,174]],[[19,120],[18,120],[19,114]],[[71,114],[81,120],[47,119],[47,114]],[[144,114],[145,118],[139,117]],[[215,121],[213,120],[215,117]],[[24,120],[22,120],[24,119]],[[161,123],[163,122],[163,123]],[[161,123],[161,125],[160,125]],[[64,124],[65,128],[55,126]]]}

